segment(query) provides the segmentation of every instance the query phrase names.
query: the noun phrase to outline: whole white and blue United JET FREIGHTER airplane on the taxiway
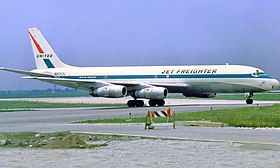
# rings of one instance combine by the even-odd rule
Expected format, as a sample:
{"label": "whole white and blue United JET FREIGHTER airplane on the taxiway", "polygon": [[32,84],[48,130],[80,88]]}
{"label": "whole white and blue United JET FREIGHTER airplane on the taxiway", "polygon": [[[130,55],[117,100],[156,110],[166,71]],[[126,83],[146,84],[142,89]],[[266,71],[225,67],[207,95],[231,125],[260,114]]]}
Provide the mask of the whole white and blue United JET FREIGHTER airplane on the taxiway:
{"label": "whole white and blue United JET FREIGHTER airplane on the taxiway", "polygon": [[63,63],[37,28],[29,28],[36,69],[0,67],[65,87],[87,90],[94,97],[131,96],[128,107],[164,106],[168,93],[210,98],[217,93],[245,93],[247,104],[256,92],[274,90],[279,81],[263,70],[244,65],[77,67]]}

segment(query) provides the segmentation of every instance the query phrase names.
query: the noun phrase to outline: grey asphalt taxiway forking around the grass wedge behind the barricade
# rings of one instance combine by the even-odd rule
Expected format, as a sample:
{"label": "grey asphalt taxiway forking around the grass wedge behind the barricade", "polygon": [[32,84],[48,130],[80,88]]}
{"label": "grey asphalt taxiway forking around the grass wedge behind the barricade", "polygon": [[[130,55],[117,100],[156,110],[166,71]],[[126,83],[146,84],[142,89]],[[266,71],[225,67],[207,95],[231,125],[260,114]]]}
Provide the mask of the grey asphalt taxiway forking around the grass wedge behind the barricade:
{"label": "grey asphalt taxiway forking around the grass wedge behind the barricade", "polygon": [[[195,104],[170,106],[176,113],[195,112],[212,109],[238,108],[257,105],[246,104]],[[271,105],[270,102],[258,102],[258,105]],[[229,141],[242,143],[258,143],[280,145],[280,129],[252,128],[213,128],[185,127],[176,129],[157,127],[154,130],[144,130],[142,124],[75,124],[77,121],[145,116],[148,110],[165,110],[166,107],[87,107],[64,109],[34,109],[34,111],[0,113],[0,132],[54,132],[78,131],[100,134],[121,134],[143,137],[160,137],[168,139],[185,139],[196,141]]]}

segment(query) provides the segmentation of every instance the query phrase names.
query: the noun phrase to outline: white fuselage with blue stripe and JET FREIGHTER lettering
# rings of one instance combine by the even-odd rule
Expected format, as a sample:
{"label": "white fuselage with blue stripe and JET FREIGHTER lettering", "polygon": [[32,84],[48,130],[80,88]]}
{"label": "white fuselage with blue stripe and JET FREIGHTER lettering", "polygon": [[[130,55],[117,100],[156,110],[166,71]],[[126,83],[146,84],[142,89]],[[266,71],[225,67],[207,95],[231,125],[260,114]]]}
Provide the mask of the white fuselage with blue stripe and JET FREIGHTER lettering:
{"label": "white fuselage with blue stripe and JET FREIGHTER lettering", "polygon": [[[56,78],[96,79],[110,83],[137,81],[169,86],[170,93],[261,92],[279,86],[276,79],[262,70],[242,65],[70,67],[36,69],[33,72]],[[185,88],[176,87],[184,84]]]}

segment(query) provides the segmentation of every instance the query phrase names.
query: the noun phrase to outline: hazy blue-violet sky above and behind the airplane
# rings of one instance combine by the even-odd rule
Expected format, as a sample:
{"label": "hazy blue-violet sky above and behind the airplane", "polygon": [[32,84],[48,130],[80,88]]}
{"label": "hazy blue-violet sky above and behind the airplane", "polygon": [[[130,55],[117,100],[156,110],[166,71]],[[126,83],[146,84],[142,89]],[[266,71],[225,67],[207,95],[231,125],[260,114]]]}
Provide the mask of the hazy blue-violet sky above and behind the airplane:
{"label": "hazy blue-violet sky above and behind the airplane", "polygon": [[[0,66],[35,69],[27,29],[75,66],[241,64],[280,79],[279,0],[0,0]],[[52,88],[0,71],[0,90]]]}

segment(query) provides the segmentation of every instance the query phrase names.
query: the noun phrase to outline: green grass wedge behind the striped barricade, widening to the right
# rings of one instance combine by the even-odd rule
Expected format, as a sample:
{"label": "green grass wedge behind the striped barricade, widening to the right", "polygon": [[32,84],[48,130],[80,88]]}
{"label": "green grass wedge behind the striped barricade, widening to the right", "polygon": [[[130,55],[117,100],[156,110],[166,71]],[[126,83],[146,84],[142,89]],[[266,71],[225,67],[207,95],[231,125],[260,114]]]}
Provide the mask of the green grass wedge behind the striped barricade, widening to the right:
{"label": "green grass wedge behind the striped barricade, widening to the right", "polygon": [[[280,105],[221,109],[176,114],[176,121],[222,122],[234,127],[280,127]],[[87,120],[80,123],[144,123],[145,117]],[[157,122],[166,122],[159,119]]]}

